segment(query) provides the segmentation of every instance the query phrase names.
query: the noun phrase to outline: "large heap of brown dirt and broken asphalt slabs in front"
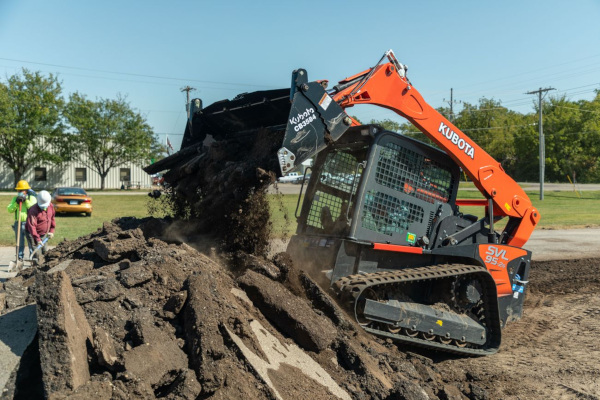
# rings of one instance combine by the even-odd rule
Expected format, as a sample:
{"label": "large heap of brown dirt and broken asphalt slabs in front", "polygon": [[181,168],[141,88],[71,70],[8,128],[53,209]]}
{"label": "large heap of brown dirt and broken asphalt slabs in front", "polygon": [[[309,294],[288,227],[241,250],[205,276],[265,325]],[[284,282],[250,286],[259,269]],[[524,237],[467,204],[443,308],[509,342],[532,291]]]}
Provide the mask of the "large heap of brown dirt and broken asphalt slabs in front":
{"label": "large heap of brown dirt and broken asphalt slabs in front", "polygon": [[5,398],[485,398],[365,335],[284,253],[230,269],[154,238],[159,225],[105,223],[21,274],[41,371]]}

